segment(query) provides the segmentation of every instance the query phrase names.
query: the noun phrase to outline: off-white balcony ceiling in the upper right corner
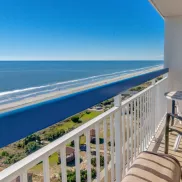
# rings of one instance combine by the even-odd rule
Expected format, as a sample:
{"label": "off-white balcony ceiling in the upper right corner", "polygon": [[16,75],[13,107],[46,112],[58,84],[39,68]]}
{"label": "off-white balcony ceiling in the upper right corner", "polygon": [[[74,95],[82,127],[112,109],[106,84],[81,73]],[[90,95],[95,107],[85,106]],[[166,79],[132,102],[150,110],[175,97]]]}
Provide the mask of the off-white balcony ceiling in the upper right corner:
{"label": "off-white balcony ceiling in the upper right corner", "polygon": [[182,16],[182,0],[149,0],[163,17]]}

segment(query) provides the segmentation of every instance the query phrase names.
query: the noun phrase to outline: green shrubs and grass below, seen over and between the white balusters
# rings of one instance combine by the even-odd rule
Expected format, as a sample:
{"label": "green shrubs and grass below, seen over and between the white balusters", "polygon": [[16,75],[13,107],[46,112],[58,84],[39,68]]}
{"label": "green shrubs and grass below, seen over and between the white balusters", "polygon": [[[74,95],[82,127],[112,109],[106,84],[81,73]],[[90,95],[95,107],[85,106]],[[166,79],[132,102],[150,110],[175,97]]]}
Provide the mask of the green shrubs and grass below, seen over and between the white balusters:
{"label": "green shrubs and grass below, seen over and between the white balusters", "polygon": [[[158,80],[161,78],[158,78]],[[131,91],[141,91],[145,89],[147,86],[149,86],[151,83],[147,82],[145,84],[139,85],[137,87],[134,87],[130,89]],[[102,110],[107,110],[113,107],[114,100],[109,99],[106,100],[97,106],[100,106]],[[53,126],[50,126],[40,132],[37,132],[35,134],[32,134],[25,139],[12,144],[7,147],[6,149],[1,149],[0,151],[0,162],[2,164],[6,164],[6,166],[13,164],[22,158],[26,157],[28,154],[38,150],[39,148],[45,146],[49,142],[52,142],[56,140],[57,138],[63,136],[64,134],[70,132],[71,130],[79,127],[80,125],[86,123],[87,121],[97,117],[100,115],[103,111],[95,111],[95,108],[93,110],[86,110],[84,112],[81,112],[75,116],[72,116],[71,118],[66,119],[65,121],[61,121]],[[110,131],[108,130],[108,136]],[[103,133],[100,133],[100,144],[103,144]],[[84,135],[80,136],[80,144],[85,144],[86,143],[86,137]],[[74,141],[69,143],[68,145],[74,147]],[[110,142],[108,142],[108,145],[110,146]],[[93,142],[93,147],[95,147],[94,142]],[[50,166],[55,166],[60,164],[59,160],[59,154],[55,152],[49,157],[49,163]],[[91,164],[95,168],[96,167],[96,158],[91,159]],[[104,156],[100,156],[100,166],[104,166]],[[43,170],[43,164],[42,162],[37,164],[31,169],[31,172],[42,172]],[[86,170],[81,170],[81,182],[86,182],[87,181],[87,171]],[[76,174],[75,171],[68,171],[67,173],[68,177],[68,182],[75,182],[76,181]],[[92,179],[96,177],[96,170],[92,169]],[[57,177],[56,177],[57,178]],[[59,178],[59,177],[58,177]],[[60,180],[60,179],[59,179]]]}

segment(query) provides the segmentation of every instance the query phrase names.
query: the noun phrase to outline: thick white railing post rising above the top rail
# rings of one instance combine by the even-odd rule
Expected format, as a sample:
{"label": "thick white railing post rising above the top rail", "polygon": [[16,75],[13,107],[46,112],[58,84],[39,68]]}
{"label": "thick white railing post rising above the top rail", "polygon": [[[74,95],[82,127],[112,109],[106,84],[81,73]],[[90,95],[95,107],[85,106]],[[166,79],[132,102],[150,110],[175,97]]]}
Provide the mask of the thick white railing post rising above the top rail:
{"label": "thick white railing post rising above the top rail", "polygon": [[[114,105],[119,110],[115,114],[115,151],[116,151],[116,182],[121,182],[121,95],[114,97]],[[125,170],[125,169],[123,169]]]}

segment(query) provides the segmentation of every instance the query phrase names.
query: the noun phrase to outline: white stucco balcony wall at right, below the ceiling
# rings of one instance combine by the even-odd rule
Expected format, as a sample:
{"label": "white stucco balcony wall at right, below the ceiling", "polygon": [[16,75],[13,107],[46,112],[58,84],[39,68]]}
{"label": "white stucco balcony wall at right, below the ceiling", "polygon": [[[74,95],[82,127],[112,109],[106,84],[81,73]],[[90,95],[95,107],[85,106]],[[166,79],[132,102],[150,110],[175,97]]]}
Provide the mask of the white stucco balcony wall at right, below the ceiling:
{"label": "white stucco balcony wall at right, below the ceiling", "polygon": [[182,90],[182,16],[165,18],[164,66],[169,90]]}

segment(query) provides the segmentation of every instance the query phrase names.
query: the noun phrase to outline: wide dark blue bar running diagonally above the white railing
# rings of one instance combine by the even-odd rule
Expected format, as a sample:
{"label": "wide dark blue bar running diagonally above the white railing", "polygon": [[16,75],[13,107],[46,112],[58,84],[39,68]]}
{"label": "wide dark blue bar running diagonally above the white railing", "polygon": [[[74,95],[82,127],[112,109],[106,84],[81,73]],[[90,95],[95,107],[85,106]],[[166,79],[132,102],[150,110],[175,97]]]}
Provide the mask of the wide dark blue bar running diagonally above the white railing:
{"label": "wide dark blue bar running diagonally above the white railing", "polygon": [[165,68],[1,113],[0,147],[20,140],[167,72],[168,68]]}

